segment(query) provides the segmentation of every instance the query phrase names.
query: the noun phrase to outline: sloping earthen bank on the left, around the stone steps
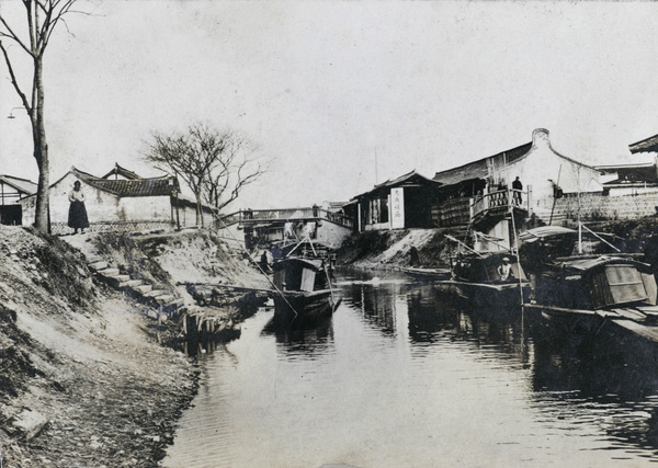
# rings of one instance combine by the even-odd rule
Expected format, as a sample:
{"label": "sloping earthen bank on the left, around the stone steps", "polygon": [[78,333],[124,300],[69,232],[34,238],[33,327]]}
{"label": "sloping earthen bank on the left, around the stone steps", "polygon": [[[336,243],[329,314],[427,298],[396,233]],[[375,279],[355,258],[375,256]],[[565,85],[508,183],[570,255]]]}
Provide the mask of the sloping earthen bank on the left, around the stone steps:
{"label": "sloping earthen bank on the left, around the stone steps", "polygon": [[70,240],[80,249],[0,226],[2,466],[155,467],[197,370],[158,343],[162,326],[144,305],[97,279],[86,252],[179,290],[260,279],[203,232]]}

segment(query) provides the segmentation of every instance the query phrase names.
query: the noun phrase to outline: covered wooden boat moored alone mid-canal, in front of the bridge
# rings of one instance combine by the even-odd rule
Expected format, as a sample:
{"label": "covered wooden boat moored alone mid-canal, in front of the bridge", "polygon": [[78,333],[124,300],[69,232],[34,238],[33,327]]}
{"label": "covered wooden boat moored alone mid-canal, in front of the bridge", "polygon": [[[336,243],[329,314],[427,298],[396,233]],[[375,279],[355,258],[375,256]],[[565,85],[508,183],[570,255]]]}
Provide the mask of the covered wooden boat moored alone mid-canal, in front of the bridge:
{"label": "covered wooden boat moored alone mid-canal, in front of the bridge", "polygon": [[274,318],[308,322],[330,316],[338,307],[327,259],[286,256],[274,263]]}

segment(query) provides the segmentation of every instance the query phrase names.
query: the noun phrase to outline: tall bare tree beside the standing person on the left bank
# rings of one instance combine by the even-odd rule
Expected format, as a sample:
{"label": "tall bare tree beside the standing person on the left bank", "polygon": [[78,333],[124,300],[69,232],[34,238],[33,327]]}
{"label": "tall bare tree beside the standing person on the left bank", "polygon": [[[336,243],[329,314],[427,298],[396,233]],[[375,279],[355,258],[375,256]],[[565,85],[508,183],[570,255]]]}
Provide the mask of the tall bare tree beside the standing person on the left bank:
{"label": "tall bare tree beside the standing person on the left bank", "polygon": [[[25,9],[25,23],[19,27],[10,24],[7,14],[0,10],[0,50],[9,69],[11,83],[21,98],[32,124],[33,156],[38,168],[36,191],[35,227],[41,232],[48,231],[49,161],[46,128],[44,125],[43,59],[53,31],[64,22],[64,16],[72,12],[76,0],[22,0]],[[16,22],[18,23],[18,22]],[[18,45],[19,52],[26,54],[31,61],[32,77],[19,80],[14,65],[19,59],[2,39]],[[22,81],[22,82],[19,82]]]}

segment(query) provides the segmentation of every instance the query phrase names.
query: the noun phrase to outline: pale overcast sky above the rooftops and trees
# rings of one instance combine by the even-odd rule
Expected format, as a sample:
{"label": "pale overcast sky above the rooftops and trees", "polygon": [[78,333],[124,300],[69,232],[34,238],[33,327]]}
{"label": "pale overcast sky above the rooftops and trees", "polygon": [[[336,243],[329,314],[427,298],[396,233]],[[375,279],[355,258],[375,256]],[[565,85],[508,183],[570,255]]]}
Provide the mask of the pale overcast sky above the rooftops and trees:
{"label": "pale overcast sky above the rooftops and trees", "polygon": [[[0,9],[20,2],[0,0]],[[348,201],[551,132],[583,162],[658,134],[658,4],[79,1],[45,62],[52,180],[115,162],[158,173],[150,132],[195,121],[274,160],[234,207]],[[22,20],[22,16],[19,16]],[[0,62],[0,173],[36,181]],[[24,111],[23,111],[24,113]],[[531,181],[527,181],[531,183]]]}

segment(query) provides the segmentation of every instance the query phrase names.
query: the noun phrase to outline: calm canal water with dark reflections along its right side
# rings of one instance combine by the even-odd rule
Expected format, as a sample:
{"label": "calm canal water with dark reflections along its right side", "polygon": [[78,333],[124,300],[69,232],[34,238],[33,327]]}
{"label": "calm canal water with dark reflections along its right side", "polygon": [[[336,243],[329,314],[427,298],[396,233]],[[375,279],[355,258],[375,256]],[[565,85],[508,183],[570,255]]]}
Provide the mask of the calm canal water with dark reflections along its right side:
{"label": "calm canal water with dark reflections along its right side", "polygon": [[275,329],[261,310],[208,347],[163,465],[658,463],[656,363],[628,336],[469,310],[378,274],[343,272],[342,303],[317,327]]}

